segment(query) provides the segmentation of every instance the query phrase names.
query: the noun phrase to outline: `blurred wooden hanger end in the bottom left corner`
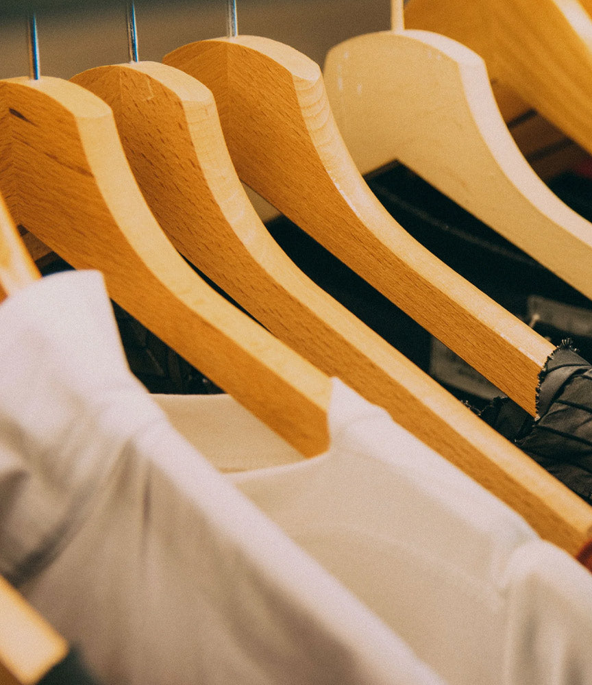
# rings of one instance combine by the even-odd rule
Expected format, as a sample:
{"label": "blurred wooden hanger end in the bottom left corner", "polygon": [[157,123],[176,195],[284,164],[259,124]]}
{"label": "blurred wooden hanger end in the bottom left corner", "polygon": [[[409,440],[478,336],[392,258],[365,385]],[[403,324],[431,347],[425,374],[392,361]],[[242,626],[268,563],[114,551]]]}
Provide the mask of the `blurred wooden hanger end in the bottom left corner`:
{"label": "blurred wooden hanger end in the bottom left corner", "polygon": [[66,640],[0,576],[0,685],[32,685],[67,652]]}

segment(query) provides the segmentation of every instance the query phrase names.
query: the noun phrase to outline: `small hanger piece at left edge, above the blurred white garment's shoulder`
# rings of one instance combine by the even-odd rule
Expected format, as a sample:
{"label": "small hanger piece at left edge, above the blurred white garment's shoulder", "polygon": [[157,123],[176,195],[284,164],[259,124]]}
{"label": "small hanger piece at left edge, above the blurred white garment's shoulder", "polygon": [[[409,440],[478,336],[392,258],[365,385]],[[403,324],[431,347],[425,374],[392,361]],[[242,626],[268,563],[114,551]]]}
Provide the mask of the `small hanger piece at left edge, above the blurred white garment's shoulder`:
{"label": "small hanger piece at left edge, above the blurred white garment's shoulder", "polygon": [[0,301],[39,277],[0,195]]}

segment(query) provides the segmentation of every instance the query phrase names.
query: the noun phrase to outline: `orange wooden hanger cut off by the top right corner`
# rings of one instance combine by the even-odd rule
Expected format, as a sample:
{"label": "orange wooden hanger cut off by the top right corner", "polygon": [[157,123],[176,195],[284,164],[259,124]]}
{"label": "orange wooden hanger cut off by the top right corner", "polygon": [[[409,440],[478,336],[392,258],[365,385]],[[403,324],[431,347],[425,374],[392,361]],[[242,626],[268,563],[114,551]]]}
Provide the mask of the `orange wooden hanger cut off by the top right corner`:
{"label": "orange wooden hanger cut off by the top right corner", "polygon": [[[575,0],[410,0],[410,29],[449,36],[485,60],[491,79],[592,152],[592,20]],[[506,92],[510,118],[524,112]],[[501,103],[501,99],[500,99]]]}

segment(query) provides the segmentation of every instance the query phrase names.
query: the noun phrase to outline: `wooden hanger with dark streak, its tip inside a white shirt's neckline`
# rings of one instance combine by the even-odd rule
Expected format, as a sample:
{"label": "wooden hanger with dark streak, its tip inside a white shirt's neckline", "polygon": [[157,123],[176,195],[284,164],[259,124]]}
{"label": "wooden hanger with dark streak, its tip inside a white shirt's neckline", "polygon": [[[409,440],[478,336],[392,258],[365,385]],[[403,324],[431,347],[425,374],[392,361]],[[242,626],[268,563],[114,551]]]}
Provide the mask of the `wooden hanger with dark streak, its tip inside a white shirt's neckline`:
{"label": "wooden hanger with dark streak, its tip inside a white shirt's neckline", "polygon": [[60,79],[0,82],[0,190],[18,224],[304,455],[328,445],[330,380],[217,295],[134,180],[112,112]]}

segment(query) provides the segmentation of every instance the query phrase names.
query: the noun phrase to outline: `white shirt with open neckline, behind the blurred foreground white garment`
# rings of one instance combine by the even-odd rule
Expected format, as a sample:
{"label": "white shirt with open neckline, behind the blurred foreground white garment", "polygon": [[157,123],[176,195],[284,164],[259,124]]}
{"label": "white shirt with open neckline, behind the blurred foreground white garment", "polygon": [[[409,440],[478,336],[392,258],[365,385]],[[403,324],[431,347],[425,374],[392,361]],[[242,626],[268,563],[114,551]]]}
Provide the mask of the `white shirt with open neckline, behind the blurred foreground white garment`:
{"label": "white shirt with open neckline, behind the blurred foreground white garment", "polygon": [[157,399],[214,465],[266,455],[228,477],[451,684],[592,682],[592,575],[340,382],[330,451],[287,466],[230,397]]}

